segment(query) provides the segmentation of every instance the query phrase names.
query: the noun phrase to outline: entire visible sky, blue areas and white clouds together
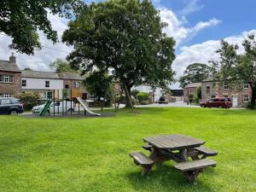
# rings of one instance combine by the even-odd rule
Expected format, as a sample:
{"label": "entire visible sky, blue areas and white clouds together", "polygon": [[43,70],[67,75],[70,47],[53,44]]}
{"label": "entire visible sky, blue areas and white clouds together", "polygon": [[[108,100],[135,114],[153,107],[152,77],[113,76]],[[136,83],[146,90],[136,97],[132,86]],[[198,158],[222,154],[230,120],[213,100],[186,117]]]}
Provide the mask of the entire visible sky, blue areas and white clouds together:
{"label": "entire visible sky, blue areas and white clouds together", "polygon": [[[221,39],[230,44],[241,44],[247,34],[256,35],[256,0],[153,0],[153,3],[160,10],[161,20],[168,23],[164,31],[177,42],[176,60],[172,63],[176,79],[193,62],[207,64],[208,61],[218,61],[219,55],[215,51]],[[57,15],[49,15],[49,20],[58,32],[60,42],[52,44],[40,32],[43,49],[32,56],[15,53],[21,69],[31,67],[33,70],[49,71],[50,62],[65,59],[73,49],[61,43],[68,20]],[[10,42],[10,38],[0,35],[0,59],[8,60],[10,53],[15,52],[9,49]],[[177,88],[179,84],[172,84],[172,89]]]}

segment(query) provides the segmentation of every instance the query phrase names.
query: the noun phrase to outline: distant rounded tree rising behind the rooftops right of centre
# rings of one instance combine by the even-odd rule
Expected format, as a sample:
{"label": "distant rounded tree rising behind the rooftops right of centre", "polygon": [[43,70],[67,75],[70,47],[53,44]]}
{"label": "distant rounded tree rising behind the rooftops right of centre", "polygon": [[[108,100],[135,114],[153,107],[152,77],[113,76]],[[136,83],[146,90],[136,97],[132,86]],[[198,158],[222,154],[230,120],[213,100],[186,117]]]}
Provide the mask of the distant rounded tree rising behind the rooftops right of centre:
{"label": "distant rounded tree rising behind the rooftops right of centre", "polygon": [[206,79],[211,73],[211,67],[203,63],[190,64],[178,80],[180,86],[184,88],[187,84],[198,83]]}

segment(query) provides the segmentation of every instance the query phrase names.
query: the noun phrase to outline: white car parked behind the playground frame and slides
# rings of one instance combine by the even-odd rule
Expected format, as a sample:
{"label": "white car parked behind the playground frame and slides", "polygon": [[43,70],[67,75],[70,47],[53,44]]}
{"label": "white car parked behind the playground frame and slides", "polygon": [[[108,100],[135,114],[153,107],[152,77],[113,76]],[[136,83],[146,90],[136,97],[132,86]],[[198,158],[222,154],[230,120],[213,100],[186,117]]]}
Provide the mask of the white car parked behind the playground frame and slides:
{"label": "white car parked behind the playground frame and slides", "polygon": [[[40,113],[43,108],[44,108],[45,104],[43,105],[38,105],[32,108],[32,113]],[[81,107],[80,107],[81,108]],[[49,107],[49,113],[62,113],[65,112],[66,113],[69,112],[74,112],[74,111],[78,111],[78,107],[77,104],[74,104],[73,102],[70,101],[63,101],[63,102],[51,102],[50,107]]]}

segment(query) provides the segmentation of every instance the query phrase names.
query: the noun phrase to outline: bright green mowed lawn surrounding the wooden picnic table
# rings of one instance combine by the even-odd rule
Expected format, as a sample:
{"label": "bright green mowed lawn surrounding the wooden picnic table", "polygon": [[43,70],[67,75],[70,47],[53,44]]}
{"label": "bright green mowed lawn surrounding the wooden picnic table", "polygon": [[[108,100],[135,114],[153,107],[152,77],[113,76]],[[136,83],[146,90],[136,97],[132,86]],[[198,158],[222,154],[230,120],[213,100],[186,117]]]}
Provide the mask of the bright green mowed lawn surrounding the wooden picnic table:
{"label": "bright green mowed lawn surrounding the wooden picnic table", "polygon": [[[191,185],[169,161],[141,177],[129,157],[143,137],[180,133],[218,151]],[[148,153],[147,153],[148,154]],[[122,110],[114,117],[0,116],[0,191],[256,191],[256,111]]]}

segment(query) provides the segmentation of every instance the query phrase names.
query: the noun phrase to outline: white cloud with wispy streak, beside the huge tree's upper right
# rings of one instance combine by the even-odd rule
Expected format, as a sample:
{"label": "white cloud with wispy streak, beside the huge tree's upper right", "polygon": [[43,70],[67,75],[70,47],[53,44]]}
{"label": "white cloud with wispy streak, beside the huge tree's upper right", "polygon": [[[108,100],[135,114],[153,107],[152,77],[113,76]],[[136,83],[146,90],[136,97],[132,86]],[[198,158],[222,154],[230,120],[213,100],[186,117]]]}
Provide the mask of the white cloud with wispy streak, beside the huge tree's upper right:
{"label": "white cloud with wispy streak, beside the huge tree's upper right", "polygon": [[193,27],[185,27],[188,23],[186,18],[183,16],[181,20],[178,20],[177,15],[173,13],[171,9],[160,8],[160,17],[163,22],[166,22],[168,26],[164,29],[167,36],[173,37],[176,40],[177,46],[182,44],[189,38],[195,37],[195,35],[201,30],[217,26],[220,20],[213,18],[207,21],[200,21]]}

